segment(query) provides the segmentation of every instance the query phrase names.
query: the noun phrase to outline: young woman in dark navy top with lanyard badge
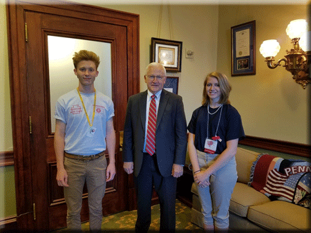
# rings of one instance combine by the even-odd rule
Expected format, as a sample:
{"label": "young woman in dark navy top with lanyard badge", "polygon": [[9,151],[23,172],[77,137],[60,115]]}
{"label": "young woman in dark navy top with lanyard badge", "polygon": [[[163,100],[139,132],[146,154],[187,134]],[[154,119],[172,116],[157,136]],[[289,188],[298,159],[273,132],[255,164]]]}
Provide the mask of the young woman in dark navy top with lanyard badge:
{"label": "young woman in dark navy top with lanyard badge", "polygon": [[232,90],[227,77],[209,73],[204,81],[202,106],[188,125],[188,149],[202,205],[205,230],[227,232],[229,203],[238,178],[236,149],[245,137],[241,116],[229,104]]}

